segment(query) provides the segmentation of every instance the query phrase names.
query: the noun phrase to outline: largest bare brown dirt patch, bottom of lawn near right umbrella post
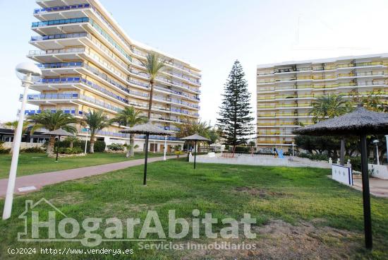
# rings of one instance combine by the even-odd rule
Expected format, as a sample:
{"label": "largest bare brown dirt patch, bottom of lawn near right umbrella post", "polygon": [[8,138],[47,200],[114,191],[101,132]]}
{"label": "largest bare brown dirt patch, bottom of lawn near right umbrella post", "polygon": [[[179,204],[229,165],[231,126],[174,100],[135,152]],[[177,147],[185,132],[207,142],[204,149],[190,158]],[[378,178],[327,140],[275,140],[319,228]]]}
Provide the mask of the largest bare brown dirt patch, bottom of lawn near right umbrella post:
{"label": "largest bare brown dirt patch, bottom of lawn near right umbrella post", "polygon": [[219,239],[201,243],[210,244],[217,241],[242,244],[244,242],[255,244],[255,249],[186,250],[181,255],[181,259],[351,259],[352,255],[363,246],[363,236],[360,233],[315,226],[313,221],[291,225],[283,220],[271,220],[267,225],[255,227],[254,230],[258,234],[255,240]]}

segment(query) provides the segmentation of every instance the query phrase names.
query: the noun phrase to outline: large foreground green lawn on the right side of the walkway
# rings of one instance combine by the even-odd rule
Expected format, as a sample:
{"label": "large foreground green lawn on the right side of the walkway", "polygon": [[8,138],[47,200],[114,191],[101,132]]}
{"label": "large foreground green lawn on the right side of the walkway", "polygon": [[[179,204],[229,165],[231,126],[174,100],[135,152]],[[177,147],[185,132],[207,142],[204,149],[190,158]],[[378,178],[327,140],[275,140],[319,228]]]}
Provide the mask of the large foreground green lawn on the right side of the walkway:
{"label": "large foreground green lawn on the right side of the walkway", "polygon": [[[142,185],[143,166],[140,165],[16,196],[11,219],[0,221],[0,259],[128,259],[126,255],[95,254],[85,258],[85,255],[51,256],[39,252],[9,255],[9,247],[85,249],[78,242],[17,241],[17,233],[23,232],[24,227],[18,215],[25,210],[25,200],[41,198],[48,199],[68,217],[77,220],[140,218],[143,223],[147,210],[154,210],[159,213],[167,235],[170,209],[176,210],[176,218],[186,220],[191,220],[193,209],[198,209],[201,218],[205,213],[212,213],[213,218],[239,220],[243,213],[250,213],[257,218],[256,230],[267,227],[273,220],[283,220],[278,222],[283,223],[281,226],[291,224],[289,228],[296,228],[295,232],[275,237],[271,242],[266,237],[276,236],[277,232],[259,232],[253,242],[257,242],[260,250],[255,252],[140,250],[138,242],[103,242],[92,247],[134,249],[129,259],[388,259],[388,200],[372,198],[374,251],[365,252],[362,195],[327,178],[329,170],[205,164],[198,164],[197,170],[193,170],[193,165],[184,160],[150,163],[148,169],[147,187]],[[4,200],[1,200],[1,209],[3,205]],[[44,211],[40,214],[44,215]],[[223,227],[217,224],[213,228],[217,231]],[[135,234],[139,232],[135,230]],[[189,236],[178,242],[228,241],[205,238],[202,225],[200,234],[200,239]],[[236,242],[241,240],[252,242],[243,238]],[[169,241],[177,242],[167,239]],[[303,252],[305,255],[301,255]],[[282,255],[273,257],[277,254]]]}

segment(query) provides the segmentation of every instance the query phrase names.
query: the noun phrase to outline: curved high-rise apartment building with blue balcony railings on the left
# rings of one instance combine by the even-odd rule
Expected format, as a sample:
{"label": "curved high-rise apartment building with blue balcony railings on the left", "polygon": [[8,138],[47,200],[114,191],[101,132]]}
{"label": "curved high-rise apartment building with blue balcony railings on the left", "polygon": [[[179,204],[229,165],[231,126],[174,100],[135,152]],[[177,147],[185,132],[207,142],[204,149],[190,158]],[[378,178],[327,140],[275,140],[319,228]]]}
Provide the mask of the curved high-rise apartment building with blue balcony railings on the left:
{"label": "curved high-rise apartment building with blue balcony railings on the left", "polygon": [[[37,22],[30,44],[38,49],[28,57],[42,69],[42,80],[32,85],[40,94],[28,95],[28,103],[38,110],[63,110],[83,117],[88,110],[104,110],[110,118],[123,107],[133,106],[146,114],[150,94],[147,73],[140,61],[157,52],[166,66],[157,77],[152,103],[152,121],[162,129],[177,131],[174,123],[182,117],[197,120],[200,102],[200,70],[186,61],[159,52],[132,40],[98,0],[38,0]],[[22,98],[22,97],[20,97]],[[129,136],[111,125],[97,138],[107,143],[123,143]],[[78,136],[85,132],[78,126]],[[136,136],[143,148],[145,136]],[[168,149],[182,144],[168,138]],[[162,150],[164,136],[150,137],[150,150]]]}

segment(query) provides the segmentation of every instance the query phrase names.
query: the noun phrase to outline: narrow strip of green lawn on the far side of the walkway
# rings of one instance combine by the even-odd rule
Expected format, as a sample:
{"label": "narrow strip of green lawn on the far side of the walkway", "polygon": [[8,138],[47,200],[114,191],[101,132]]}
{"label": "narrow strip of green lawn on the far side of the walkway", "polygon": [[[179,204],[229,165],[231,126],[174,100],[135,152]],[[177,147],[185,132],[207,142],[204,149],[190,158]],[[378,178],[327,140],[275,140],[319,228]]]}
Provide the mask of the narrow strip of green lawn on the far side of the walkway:
{"label": "narrow strip of green lawn on the far side of the walkway", "polygon": [[[148,155],[150,157],[163,156],[162,153],[148,153]],[[8,178],[11,158],[11,155],[0,154],[0,179]],[[20,153],[18,176],[92,165],[103,165],[111,162],[121,162],[123,160],[135,160],[140,158],[144,158],[143,153],[135,153],[135,156],[131,159],[127,159],[122,153],[93,153],[83,157],[59,158],[59,161],[55,162],[55,158],[48,158],[44,153]]]}

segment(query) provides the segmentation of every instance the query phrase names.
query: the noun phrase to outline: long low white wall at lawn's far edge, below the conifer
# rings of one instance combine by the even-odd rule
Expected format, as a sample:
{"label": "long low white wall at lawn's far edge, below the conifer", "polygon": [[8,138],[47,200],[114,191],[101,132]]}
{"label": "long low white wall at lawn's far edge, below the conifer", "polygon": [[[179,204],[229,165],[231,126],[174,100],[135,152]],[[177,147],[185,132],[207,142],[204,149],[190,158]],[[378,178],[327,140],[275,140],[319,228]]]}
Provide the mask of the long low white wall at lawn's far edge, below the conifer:
{"label": "long low white wall at lawn's far edge, below the conifer", "polygon": [[[303,160],[300,160],[303,159]],[[306,160],[305,158],[293,158],[289,160],[289,157],[284,159],[273,158],[271,155],[235,155],[234,158],[221,157],[220,153],[216,154],[216,157],[210,158],[209,155],[198,155],[197,162],[204,163],[220,163],[231,165],[261,165],[261,166],[286,166],[286,167],[319,167],[330,169],[332,165],[327,162],[317,162],[313,160]],[[194,162],[194,156],[190,156],[189,162]]]}

